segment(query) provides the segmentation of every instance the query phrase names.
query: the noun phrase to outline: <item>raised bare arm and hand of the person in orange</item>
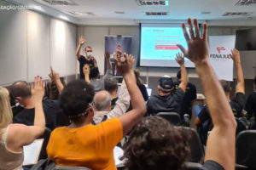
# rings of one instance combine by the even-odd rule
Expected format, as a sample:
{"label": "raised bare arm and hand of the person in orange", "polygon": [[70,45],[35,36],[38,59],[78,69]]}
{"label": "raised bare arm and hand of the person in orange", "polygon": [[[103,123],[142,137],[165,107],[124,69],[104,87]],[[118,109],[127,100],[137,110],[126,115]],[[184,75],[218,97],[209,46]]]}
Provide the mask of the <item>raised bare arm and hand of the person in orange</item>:
{"label": "raised bare arm and hand of the person in orange", "polygon": [[132,110],[125,115],[120,116],[119,120],[123,125],[124,136],[131,131],[131,128],[144,116],[146,113],[146,104],[143,99],[143,94],[137,87],[137,83],[132,70],[134,59],[131,55],[124,54],[121,58],[114,55],[117,71],[124,77],[126,87],[131,96]]}

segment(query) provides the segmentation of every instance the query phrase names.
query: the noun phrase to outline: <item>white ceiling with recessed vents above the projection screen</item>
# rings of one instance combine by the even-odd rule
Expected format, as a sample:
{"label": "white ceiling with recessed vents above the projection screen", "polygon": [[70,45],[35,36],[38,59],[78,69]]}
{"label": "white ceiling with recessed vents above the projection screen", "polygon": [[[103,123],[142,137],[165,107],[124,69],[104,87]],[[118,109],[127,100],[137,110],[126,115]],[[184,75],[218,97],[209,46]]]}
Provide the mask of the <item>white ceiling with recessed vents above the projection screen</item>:
{"label": "white ceiling with recessed vents above the projection screen", "polygon": [[[169,6],[139,6],[137,0],[67,0],[74,6],[50,5],[44,0],[34,0],[63,13],[91,13],[73,15],[83,19],[122,19],[122,20],[185,20],[188,17],[198,20],[252,20],[256,19],[256,6],[236,6],[239,0],[169,0]],[[125,14],[115,14],[115,11]],[[167,12],[166,16],[147,16],[145,12]],[[201,14],[210,12],[210,14]],[[249,12],[248,16],[222,16],[225,12]]]}

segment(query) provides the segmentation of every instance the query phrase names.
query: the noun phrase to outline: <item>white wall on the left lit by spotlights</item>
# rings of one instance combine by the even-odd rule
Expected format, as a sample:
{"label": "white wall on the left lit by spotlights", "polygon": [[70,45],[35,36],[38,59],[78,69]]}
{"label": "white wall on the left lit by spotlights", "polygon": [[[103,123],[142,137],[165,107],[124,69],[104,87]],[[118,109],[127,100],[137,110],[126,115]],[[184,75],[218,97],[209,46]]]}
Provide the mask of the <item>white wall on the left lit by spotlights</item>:
{"label": "white wall on the left lit by spotlights", "polygon": [[[1,2],[0,5],[7,5]],[[0,10],[0,85],[74,75],[77,27],[28,10]]]}

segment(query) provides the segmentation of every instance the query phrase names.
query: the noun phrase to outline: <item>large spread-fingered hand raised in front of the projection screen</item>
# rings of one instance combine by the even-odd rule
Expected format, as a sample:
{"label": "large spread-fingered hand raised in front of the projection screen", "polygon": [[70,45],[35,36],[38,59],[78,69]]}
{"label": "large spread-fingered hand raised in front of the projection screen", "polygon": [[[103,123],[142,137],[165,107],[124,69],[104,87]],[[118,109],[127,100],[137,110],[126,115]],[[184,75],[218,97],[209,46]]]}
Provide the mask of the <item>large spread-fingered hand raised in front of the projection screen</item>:
{"label": "large spread-fingered hand raised in front of the projection screen", "polygon": [[209,60],[209,52],[208,52],[208,43],[207,43],[207,24],[203,25],[203,35],[200,36],[199,26],[197,20],[194,20],[194,28],[193,30],[191,19],[188,19],[189,24],[189,33],[186,29],[186,25],[183,24],[183,34],[188,43],[188,49],[183,48],[182,45],[177,44],[177,47],[180,48],[185,57],[190,59],[195,65],[201,64],[201,62],[205,62]]}

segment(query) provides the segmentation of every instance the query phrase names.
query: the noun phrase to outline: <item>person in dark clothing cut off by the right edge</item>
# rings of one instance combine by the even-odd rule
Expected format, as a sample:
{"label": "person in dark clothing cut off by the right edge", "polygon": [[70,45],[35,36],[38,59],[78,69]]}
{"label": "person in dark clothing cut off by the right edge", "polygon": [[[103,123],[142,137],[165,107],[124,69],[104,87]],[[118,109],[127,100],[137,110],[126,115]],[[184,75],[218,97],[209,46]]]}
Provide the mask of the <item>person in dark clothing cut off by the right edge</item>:
{"label": "person in dark clothing cut off by the right edge", "polygon": [[245,106],[245,111],[247,111],[247,117],[251,118],[254,116],[254,122],[253,122],[253,129],[256,129],[256,77],[254,78],[253,82],[253,94],[250,94],[246,106]]}

